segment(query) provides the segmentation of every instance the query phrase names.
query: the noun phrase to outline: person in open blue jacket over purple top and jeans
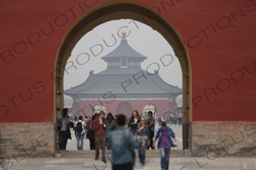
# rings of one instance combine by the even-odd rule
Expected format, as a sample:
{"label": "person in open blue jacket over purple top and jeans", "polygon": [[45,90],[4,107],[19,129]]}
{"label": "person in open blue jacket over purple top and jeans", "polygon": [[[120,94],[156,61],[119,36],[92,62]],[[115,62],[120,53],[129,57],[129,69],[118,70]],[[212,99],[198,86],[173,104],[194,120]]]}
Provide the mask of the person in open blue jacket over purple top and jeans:
{"label": "person in open blue jacket over purple top and jeans", "polygon": [[166,122],[162,122],[162,126],[157,130],[153,147],[156,146],[157,139],[159,139],[157,147],[161,153],[161,168],[162,170],[168,170],[171,147],[178,147],[178,142],[175,138],[175,133],[172,131],[172,128],[167,127]]}

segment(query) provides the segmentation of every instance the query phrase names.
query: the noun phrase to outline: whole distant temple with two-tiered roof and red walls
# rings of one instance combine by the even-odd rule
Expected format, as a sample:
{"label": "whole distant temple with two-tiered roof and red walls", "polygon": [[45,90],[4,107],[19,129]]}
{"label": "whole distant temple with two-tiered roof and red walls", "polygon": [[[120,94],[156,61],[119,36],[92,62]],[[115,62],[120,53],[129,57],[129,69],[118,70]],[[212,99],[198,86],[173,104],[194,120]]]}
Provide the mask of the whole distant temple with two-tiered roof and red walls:
{"label": "whole distant temple with two-tiered roof and red walls", "polygon": [[159,76],[158,70],[148,73],[141,69],[147,59],[128,45],[122,32],[120,45],[106,56],[107,69],[93,73],[81,85],[65,90],[73,98],[74,115],[87,115],[104,110],[106,113],[124,113],[131,116],[132,110],[140,114],[153,111],[153,116],[162,116],[177,109],[175,98],[182,89],[169,85]]}

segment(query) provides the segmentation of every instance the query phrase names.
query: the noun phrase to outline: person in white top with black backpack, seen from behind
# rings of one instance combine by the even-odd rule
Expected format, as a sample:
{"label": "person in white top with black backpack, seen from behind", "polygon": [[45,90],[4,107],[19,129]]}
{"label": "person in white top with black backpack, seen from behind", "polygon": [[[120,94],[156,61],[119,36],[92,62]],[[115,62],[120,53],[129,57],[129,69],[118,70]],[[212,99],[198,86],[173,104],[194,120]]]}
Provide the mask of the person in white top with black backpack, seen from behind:
{"label": "person in white top with black backpack, seen from behind", "polygon": [[84,123],[83,116],[78,117],[78,121],[74,124],[74,129],[77,138],[77,150],[83,150],[84,147],[84,135],[86,125]]}

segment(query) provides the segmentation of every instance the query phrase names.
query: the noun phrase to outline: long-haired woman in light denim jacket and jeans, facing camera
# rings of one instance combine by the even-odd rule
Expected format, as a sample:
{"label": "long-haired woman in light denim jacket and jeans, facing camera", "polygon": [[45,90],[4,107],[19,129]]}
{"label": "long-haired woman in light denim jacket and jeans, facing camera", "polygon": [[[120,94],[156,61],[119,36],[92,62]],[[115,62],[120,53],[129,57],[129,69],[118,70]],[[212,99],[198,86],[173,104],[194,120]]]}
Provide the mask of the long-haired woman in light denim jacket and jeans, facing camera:
{"label": "long-haired woman in light denim jacket and jeans, facing camera", "polygon": [[138,147],[138,153],[141,165],[144,166],[146,158],[146,149],[147,146],[150,145],[150,129],[148,128],[147,120],[144,116],[141,117],[141,122],[137,126],[137,131],[135,134],[137,135],[136,139],[140,141],[141,144],[141,146]]}

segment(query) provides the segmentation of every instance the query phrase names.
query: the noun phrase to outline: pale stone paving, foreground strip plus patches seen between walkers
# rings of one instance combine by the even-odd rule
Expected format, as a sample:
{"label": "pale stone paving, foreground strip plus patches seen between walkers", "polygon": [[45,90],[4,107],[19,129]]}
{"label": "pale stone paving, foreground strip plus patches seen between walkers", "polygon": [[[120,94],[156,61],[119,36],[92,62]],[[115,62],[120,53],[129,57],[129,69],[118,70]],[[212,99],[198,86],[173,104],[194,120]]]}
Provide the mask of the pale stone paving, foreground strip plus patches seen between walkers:
{"label": "pale stone paving, foreground strip plus patches seen between walkers", "polygon": [[[181,127],[173,127],[179,138],[182,137]],[[74,135],[74,134],[73,134]],[[172,150],[169,162],[169,170],[207,169],[207,170],[256,170],[256,157],[217,157],[210,160],[206,157],[183,156],[182,140],[179,148]],[[174,149],[174,148],[172,148]],[[109,159],[105,164],[101,159],[94,160],[94,150],[89,151],[89,141],[84,140],[84,150],[76,150],[76,140],[69,141],[67,151],[62,151],[62,157],[32,158],[26,157],[0,159],[0,170],[110,170]],[[107,151],[108,153],[109,151]],[[100,152],[101,153],[101,152]],[[136,159],[134,170],[160,170],[159,150],[146,151],[146,165],[144,167]],[[137,152],[136,152],[137,154]],[[33,156],[33,155],[31,155]]]}

